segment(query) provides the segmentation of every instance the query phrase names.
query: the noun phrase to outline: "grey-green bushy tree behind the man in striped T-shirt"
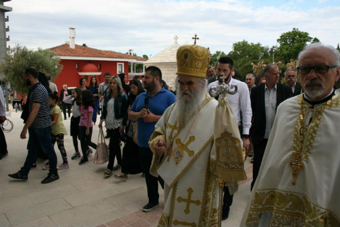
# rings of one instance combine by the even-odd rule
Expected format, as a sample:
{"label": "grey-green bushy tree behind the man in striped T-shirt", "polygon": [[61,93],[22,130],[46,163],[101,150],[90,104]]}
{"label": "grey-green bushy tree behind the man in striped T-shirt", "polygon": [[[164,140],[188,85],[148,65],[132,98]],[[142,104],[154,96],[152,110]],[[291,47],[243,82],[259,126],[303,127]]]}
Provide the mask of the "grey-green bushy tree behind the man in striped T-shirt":
{"label": "grey-green bushy tree behind the man in striped T-shirt", "polygon": [[28,87],[23,72],[27,67],[35,67],[39,72],[50,74],[54,80],[62,70],[59,62],[60,58],[54,51],[41,48],[35,51],[18,44],[5,54],[4,61],[0,63],[0,73],[4,75],[5,81],[13,85],[14,90],[26,93]]}

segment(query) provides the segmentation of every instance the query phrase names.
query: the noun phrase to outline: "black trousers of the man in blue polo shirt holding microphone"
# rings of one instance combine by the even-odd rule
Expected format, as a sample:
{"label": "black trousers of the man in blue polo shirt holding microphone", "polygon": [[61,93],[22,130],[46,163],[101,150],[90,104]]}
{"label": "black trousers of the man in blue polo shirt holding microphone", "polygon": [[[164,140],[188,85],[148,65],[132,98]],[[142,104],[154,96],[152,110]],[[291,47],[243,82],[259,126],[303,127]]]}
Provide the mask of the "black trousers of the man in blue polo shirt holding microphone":
{"label": "black trousers of the man in blue polo shirt holding microphone", "polygon": [[162,188],[164,188],[164,180],[159,177],[154,177],[150,174],[149,170],[152,161],[152,151],[149,147],[140,147],[140,160],[143,172],[145,173],[145,182],[148,190],[149,203],[158,203],[158,181]]}

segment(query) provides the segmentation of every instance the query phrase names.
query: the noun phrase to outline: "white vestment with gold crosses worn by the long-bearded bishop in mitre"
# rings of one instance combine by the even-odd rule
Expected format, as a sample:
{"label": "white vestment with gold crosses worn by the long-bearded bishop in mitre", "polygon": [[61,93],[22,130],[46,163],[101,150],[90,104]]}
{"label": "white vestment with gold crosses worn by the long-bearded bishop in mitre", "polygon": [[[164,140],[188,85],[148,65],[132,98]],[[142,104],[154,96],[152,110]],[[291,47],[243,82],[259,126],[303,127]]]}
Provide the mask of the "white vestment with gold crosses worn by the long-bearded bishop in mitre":
{"label": "white vestment with gold crosses worn by the long-bearded bishop in mitre", "polygon": [[[164,179],[164,210],[159,226],[217,226],[220,221],[220,191],[218,176],[237,175],[232,179],[244,180],[242,141],[237,132],[230,132],[228,139],[237,141],[232,152],[239,157],[242,170],[224,170],[223,163],[216,161],[214,122],[217,101],[206,96],[198,115],[191,119],[184,128],[175,128],[178,108],[176,103],[169,107],[155,126],[150,138],[150,148],[159,138],[166,142],[167,151],[160,157],[154,152],[150,173],[158,174]],[[237,128],[235,117],[227,121],[233,122]],[[178,125],[175,125],[178,126]],[[220,139],[221,140],[221,139]],[[220,164],[220,166],[219,166]],[[226,163],[224,163],[226,164]],[[239,166],[240,166],[239,165]],[[229,172],[228,172],[229,171]],[[234,171],[234,172],[232,172]],[[229,178],[231,179],[231,178]],[[226,181],[226,180],[224,180]],[[234,183],[235,183],[234,182]]]}

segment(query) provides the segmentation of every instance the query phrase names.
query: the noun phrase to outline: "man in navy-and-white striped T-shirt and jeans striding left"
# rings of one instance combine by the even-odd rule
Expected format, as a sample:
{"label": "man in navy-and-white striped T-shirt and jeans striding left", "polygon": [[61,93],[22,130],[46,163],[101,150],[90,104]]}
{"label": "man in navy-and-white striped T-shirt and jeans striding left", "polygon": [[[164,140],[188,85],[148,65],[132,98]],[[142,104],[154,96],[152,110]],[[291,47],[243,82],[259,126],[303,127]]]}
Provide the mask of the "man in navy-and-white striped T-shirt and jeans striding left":
{"label": "man in navy-and-white striped T-shirt and jeans striding left", "polygon": [[51,143],[51,118],[48,92],[44,85],[38,80],[39,72],[32,67],[25,70],[24,78],[29,88],[28,96],[28,118],[20,134],[21,139],[26,139],[29,133],[27,149],[28,154],[24,166],[14,174],[8,176],[14,179],[27,180],[28,172],[37,158],[37,145],[47,154],[49,160],[49,173],[42,180],[42,184],[58,180],[57,156]]}

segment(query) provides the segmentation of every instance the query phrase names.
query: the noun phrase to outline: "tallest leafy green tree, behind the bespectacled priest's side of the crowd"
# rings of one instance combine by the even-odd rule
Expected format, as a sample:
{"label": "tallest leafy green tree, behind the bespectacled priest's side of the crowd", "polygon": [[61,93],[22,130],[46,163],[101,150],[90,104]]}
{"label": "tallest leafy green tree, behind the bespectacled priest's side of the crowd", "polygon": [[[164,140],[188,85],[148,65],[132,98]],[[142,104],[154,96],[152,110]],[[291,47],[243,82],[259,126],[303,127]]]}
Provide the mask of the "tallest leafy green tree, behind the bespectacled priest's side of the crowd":
{"label": "tallest leafy green tree, behind the bespectacled priest's side of the crowd", "polygon": [[292,31],[287,31],[281,34],[277,42],[280,44],[275,51],[275,55],[285,63],[288,63],[291,58],[297,59],[297,55],[303,47],[309,42],[319,42],[318,38],[312,38],[305,31],[300,31],[298,28],[293,28]]}

